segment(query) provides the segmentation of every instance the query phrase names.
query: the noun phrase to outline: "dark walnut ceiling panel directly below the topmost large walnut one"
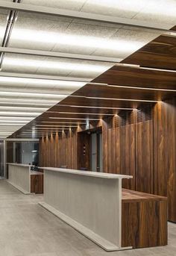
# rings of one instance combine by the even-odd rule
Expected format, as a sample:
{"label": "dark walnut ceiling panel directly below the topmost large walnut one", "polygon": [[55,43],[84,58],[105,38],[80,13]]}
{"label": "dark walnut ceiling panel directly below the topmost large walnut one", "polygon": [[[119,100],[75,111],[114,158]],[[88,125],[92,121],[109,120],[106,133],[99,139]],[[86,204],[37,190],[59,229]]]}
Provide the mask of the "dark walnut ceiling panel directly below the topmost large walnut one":
{"label": "dark walnut ceiling panel directly below the topmost large walnut one", "polygon": [[[128,60],[128,59],[127,59]],[[94,79],[96,83],[131,87],[151,87],[176,90],[176,75],[173,72],[113,66]]]}

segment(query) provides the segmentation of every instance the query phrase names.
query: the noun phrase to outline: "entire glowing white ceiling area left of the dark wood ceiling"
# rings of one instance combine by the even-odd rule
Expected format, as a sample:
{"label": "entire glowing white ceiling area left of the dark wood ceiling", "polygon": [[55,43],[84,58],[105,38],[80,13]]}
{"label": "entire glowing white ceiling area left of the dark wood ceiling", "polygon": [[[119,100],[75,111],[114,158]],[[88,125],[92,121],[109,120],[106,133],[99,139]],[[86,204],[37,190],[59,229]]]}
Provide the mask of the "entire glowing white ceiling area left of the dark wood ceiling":
{"label": "entire glowing white ceiling area left of the dark wood ceiling", "polygon": [[[2,2],[0,1],[0,8]],[[172,0],[160,0],[160,3],[151,0],[22,0],[19,6],[20,4],[63,8],[65,11],[74,10],[89,15],[110,15],[112,18],[119,17],[139,24],[154,22],[155,25],[162,24],[167,29],[172,28],[176,22],[176,3]],[[86,81],[92,81],[110,69],[113,63],[105,60],[124,60],[162,33],[156,29],[113,22],[22,11],[17,11],[15,21],[11,22],[10,15],[10,10],[0,10],[1,47],[31,50],[31,54],[1,52],[1,138],[13,134],[54,104],[83,87],[87,84]],[[33,51],[43,51],[43,55],[32,54]],[[63,57],[44,55],[44,51],[58,52]],[[11,76],[5,73],[10,73]],[[33,78],[37,75],[45,75],[50,79]],[[61,76],[68,78],[69,81],[57,79]]]}

